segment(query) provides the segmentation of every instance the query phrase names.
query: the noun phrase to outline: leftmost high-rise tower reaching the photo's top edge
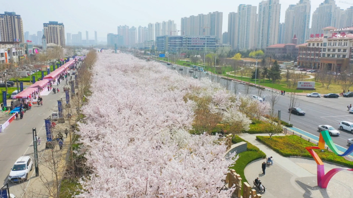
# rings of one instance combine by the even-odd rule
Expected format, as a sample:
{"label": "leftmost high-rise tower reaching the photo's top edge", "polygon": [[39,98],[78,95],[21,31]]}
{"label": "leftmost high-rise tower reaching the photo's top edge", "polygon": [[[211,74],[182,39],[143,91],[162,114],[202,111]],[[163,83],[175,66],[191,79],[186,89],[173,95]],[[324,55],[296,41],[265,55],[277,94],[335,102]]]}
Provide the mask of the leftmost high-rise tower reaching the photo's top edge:
{"label": "leftmost high-rise tower reaching the photo's top edge", "polygon": [[257,19],[257,48],[277,44],[281,5],[279,0],[259,3]]}

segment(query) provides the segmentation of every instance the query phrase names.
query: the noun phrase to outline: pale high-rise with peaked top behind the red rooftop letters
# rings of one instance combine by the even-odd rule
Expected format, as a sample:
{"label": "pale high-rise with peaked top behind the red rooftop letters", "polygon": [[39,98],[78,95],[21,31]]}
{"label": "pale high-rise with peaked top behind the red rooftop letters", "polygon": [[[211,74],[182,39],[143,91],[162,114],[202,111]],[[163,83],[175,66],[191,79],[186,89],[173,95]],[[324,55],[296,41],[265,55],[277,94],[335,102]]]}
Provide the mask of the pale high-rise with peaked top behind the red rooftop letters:
{"label": "pale high-rise with peaked top behind the red rooftop letters", "polygon": [[310,34],[323,34],[323,28],[339,27],[340,14],[339,7],[334,0],[324,0],[323,3],[313,13],[312,28]]}

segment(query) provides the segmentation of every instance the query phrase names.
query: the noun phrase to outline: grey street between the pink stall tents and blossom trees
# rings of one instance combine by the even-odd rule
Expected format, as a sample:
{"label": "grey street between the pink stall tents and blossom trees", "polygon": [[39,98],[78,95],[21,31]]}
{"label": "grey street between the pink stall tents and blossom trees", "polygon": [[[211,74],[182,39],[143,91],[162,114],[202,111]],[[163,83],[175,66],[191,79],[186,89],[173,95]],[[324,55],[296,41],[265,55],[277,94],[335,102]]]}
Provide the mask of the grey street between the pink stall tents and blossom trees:
{"label": "grey street between the pink stall tents and blossom trees", "polygon": [[[49,95],[42,96],[43,106],[33,105],[32,110],[28,110],[24,114],[23,119],[13,120],[10,125],[0,133],[0,179],[4,185],[7,183],[8,175],[15,161],[20,156],[31,156],[33,157],[33,135],[32,129],[36,128],[37,135],[41,139],[41,144],[38,145],[38,157],[41,155],[41,151],[45,150],[46,144],[46,131],[44,126],[44,119],[48,118],[53,111],[57,110],[57,100],[62,98],[65,101],[63,86],[65,80],[60,83],[59,86],[54,85],[54,88],[59,87],[60,92],[54,94],[53,92]],[[30,178],[34,173],[33,169],[28,175],[28,180],[24,183],[9,183],[10,193],[20,197],[23,193],[23,189],[26,187]],[[40,166],[39,166],[40,169]]]}

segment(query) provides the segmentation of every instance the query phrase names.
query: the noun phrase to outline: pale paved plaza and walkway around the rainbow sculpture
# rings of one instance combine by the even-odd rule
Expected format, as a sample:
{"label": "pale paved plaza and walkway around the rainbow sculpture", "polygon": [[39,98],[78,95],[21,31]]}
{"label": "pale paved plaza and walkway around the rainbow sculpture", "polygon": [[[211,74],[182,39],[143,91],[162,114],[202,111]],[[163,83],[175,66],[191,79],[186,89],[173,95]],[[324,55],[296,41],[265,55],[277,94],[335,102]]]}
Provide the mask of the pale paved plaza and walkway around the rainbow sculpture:
{"label": "pale paved plaza and walkway around the rainbow sculpture", "polygon": [[[256,134],[260,135],[260,134]],[[244,174],[249,184],[258,177],[267,188],[262,197],[352,197],[352,171],[341,171],[329,182],[327,189],[317,186],[316,162],[311,159],[286,158],[256,140],[256,135],[242,134],[241,138],[257,146],[267,156],[272,156],[274,165],[266,168],[262,175],[261,164],[265,159],[249,164]],[[267,134],[264,134],[267,135]],[[282,134],[281,134],[282,135]],[[325,172],[341,167],[325,163]],[[254,188],[255,189],[255,188]]]}

